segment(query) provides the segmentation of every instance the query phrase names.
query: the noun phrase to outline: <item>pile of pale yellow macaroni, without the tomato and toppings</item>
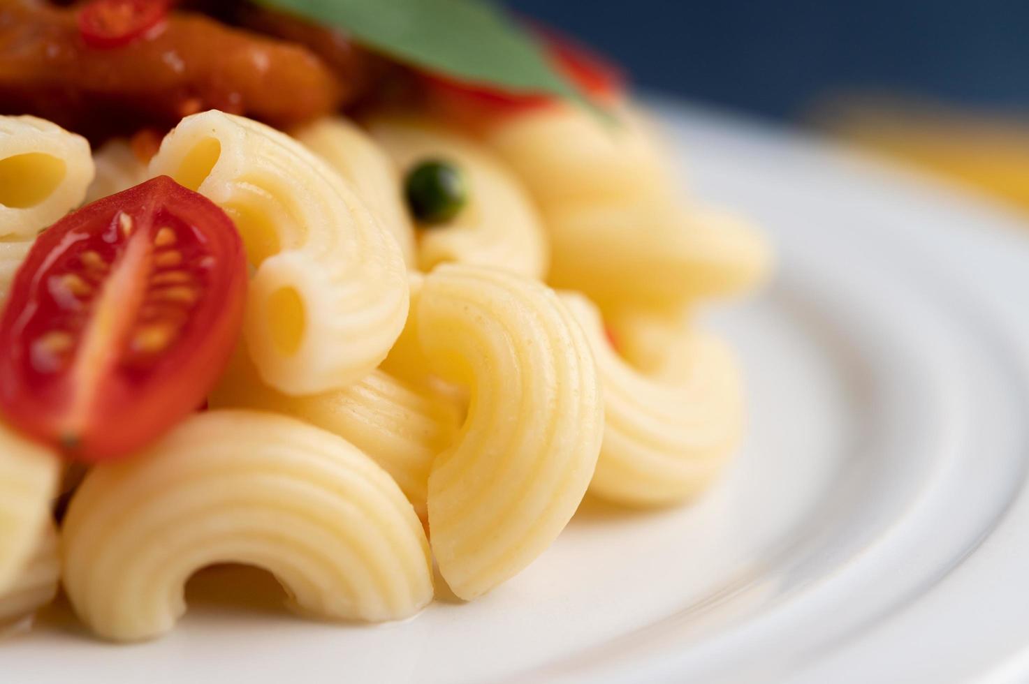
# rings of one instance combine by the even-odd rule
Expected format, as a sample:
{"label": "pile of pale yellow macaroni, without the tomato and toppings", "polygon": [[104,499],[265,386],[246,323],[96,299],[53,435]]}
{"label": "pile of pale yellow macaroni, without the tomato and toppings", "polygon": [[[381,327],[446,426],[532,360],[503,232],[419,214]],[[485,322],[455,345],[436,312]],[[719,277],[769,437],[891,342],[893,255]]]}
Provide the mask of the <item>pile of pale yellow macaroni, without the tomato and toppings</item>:
{"label": "pile of pale yellow macaroni, without the tomato and toppings", "polygon": [[[211,409],[93,467],[60,525],[63,461],[0,425],[0,622],[60,582],[96,635],[157,637],[221,563],[270,571],[305,614],[400,619],[432,601],[433,561],[457,597],[482,596],[588,492],[701,492],[744,397],[690,314],[754,288],[770,252],[741,219],[682,204],[643,117],[617,119],[554,106],[471,136],[383,112],[287,135],[208,111],[147,165],[126,141],[91,154],[0,117],[0,294],[41,229],[159,174],[227,213],[252,268]],[[401,192],[427,158],[469,187],[440,225]]]}

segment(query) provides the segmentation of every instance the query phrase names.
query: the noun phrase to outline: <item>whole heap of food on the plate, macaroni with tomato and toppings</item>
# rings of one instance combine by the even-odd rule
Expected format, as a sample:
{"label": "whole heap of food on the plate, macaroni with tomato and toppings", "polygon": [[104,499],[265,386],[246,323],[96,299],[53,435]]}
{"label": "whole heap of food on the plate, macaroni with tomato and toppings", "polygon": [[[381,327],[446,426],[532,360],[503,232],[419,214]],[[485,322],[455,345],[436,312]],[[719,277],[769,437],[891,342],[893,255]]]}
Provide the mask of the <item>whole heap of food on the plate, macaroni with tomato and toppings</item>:
{"label": "whole heap of food on the plate, macaroni with tomato and toppings", "polygon": [[63,586],[98,637],[157,638],[221,564],[306,616],[404,619],[436,569],[497,589],[588,494],[682,503],[729,462],[742,373],[695,313],[771,251],[682,201],[602,58],[487,12],[538,60],[516,87],[502,55],[469,79],[427,33],[401,64],[343,15],[32,4],[15,26],[75,40],[46,84],[48,33],[20,37],[14,106],[107,142],[0,116],[0,627]]}

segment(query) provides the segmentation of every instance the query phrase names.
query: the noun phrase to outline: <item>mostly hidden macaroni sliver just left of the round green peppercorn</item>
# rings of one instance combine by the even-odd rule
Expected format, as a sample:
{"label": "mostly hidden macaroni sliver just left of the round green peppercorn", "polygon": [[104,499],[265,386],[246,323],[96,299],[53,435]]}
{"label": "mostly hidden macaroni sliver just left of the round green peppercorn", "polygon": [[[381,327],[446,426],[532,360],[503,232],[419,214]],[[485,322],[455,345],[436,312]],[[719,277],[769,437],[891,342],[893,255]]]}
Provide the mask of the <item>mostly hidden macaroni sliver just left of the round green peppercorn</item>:
{"label": "mostly hidden macaroni sliver just left of the round green peppercorn", "polygon": [[415,265],[415,228],[407,217],[397,170],[367,133],[353,121],[334,116],[292,132],[354,186],[368,209],[400,246],[404,261]]}

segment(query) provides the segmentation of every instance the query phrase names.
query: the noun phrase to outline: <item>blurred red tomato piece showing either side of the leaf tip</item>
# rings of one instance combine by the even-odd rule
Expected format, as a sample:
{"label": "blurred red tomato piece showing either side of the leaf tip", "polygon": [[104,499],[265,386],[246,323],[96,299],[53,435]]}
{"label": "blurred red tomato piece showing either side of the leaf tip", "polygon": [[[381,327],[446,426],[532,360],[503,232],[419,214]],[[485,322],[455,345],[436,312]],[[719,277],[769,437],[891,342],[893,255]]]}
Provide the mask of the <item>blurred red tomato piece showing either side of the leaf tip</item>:
{"label": "blurred red tomato piece showing either side of the leaf tip", "polygon": [[[536,31],[555,67],[583,95],[603,104],[625,92],[625,77],[613,64],[553,30],[537,28]],[[510,93],[439,74],[426,74],[424,80],[430,105],[442,116],[464,122],[517,114],[555,102],[553,96],[545,94]]]}

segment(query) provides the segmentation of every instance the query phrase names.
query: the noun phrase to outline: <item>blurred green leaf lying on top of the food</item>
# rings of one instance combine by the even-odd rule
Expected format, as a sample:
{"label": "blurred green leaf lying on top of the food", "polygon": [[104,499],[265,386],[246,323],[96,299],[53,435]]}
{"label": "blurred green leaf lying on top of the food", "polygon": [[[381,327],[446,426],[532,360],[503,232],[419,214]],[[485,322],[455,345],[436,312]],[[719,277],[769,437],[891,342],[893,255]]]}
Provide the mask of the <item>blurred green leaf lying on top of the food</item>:
{"label": "blurred green leaf lying on top of the food", "polygon": [[536,38],[486,0],[257,0],[341,29],[398,62],[510,93],[595,107],[556,71]]}

